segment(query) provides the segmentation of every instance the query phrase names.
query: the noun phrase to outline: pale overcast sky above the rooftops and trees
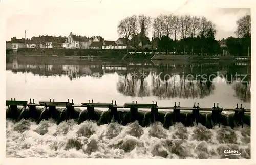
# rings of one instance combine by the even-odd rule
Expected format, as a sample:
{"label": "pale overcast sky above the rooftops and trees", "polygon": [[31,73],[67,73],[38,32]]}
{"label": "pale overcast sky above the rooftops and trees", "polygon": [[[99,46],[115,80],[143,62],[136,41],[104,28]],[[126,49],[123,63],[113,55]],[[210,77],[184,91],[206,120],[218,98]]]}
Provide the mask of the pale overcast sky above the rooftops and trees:
{"label": "pale overcast sky above the rooftops and trees", "polygon": [[[6,0],[6,40],[39,35],[102,36],[116,40],[117,24],[133,14],[156,17],[159,14],[205,16],[216,24],[216,39],[234,36],[236,21],[250,13],[241,5],[229,8],[217,1],[190,0]],[[226,2],[227,6],[227,1]],[[230,2],[230,1],[229,1]],[[234,2],[234,1],[232,1]],[[244,1],[246,2],[246,1]],[[234,4],[234,3],[232,3]],[[224,7],[223,6],[223,7]],[[241,8],[242,7],[242,8]],[[8,10],[6,10],[8,9]],[[152,32],[148,37],[151,38]]]}

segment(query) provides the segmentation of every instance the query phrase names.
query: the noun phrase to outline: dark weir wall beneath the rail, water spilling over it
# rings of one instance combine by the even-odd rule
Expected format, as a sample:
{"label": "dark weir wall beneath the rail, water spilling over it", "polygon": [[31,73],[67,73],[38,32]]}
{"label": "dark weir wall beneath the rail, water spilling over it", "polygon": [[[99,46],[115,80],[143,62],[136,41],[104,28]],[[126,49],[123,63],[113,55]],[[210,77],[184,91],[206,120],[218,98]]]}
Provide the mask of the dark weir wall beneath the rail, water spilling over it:
{"label": "dark weir wall beneath the rail, water spilling over it", "polygon": [[155,121],[159,121],[165,128],[173,126],[177,122],[181,122],[185,126],[195,126],[197,123],[201,123],[209,129],[215,125],[230,126],[231,128],[244,124],[250,126],[250,114],[244,113],[241,115],[240,112],[232,112],[229,114],[221,113],[220,116],[215,112],[199,112],[198,115],[195,116],[194,111],[178,111],[176,113],[174,113],[174,111],[158,111],[153,115],[153,111],[142,111],[138,110],[138,108],[131,109],[130,111],[117,111],[117,108],[114,108],[114,111],[110,111],[110,109],[100,111],[94,110],[94,108],[88,108],[86,110],[73,108],[71,110],[51,106],[29,106],[26,109],[24,107],[10,106],[6,108],[6,118],[14,119],[15,121],[29,119],[35,121],[37,124],[41,120],[52,118],[56,121],[56,124],[68,119],[74,119],[78,124],[86,120],[92,120],[97,122],[98,125],[108,124],[110,122],[118,122],[119,124],[126,125],[137,120],[143,127],[149,126]]}

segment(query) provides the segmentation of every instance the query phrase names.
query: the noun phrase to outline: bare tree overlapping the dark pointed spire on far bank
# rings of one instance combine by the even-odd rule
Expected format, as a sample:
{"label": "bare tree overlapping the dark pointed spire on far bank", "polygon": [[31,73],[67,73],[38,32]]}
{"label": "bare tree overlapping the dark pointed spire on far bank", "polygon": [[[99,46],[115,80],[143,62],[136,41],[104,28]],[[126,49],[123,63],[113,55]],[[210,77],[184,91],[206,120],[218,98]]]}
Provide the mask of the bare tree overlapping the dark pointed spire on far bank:
{"label": "bare tree overlapping the dark pointed spire on far bank", "polygon": [[145,15],[139,15],[138,24],[139,24],[139,28],[140,28],[139,32],[140,32],[142,53],[144,54],[144,51],[143,51],[144,38],[148,34],[148,30],[150,29],[151,17],[145,16]]}

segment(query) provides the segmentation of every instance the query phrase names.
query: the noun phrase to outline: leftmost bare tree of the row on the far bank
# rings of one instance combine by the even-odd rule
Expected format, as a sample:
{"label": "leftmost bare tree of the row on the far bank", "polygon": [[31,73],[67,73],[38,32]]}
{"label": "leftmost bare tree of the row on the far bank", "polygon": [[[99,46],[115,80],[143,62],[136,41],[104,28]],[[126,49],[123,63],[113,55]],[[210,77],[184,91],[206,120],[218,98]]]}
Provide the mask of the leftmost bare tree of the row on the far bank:
{"label": "leftmost bare tree of the row on the far bank", "polygon": [[132,24],[131,24],[130,17],[126,17],[118,23],[117,32],[120,36],[123,36],[126,39],[127,54],[128,54],[128,46],[129,46],[128,40],[132,33]]}

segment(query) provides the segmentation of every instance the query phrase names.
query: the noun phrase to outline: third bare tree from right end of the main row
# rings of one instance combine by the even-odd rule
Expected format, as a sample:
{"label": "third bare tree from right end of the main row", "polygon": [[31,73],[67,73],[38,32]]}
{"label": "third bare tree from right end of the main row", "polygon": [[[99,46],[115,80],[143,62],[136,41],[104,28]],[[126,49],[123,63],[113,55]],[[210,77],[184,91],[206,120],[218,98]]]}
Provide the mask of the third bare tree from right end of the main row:
{"label": "third bare tree from right end of the main row", "polygon": [[[191,18],[190,15],[185,15],[185,16],[181,16],[180,17],[180,33],[181,33],[181,37],[183,39],[187,38],[188,34],[189,34],[189,29],[190,29],[190,25],[191,25]],[[185,54],[185,45],[183,44],[183,51]]]}

